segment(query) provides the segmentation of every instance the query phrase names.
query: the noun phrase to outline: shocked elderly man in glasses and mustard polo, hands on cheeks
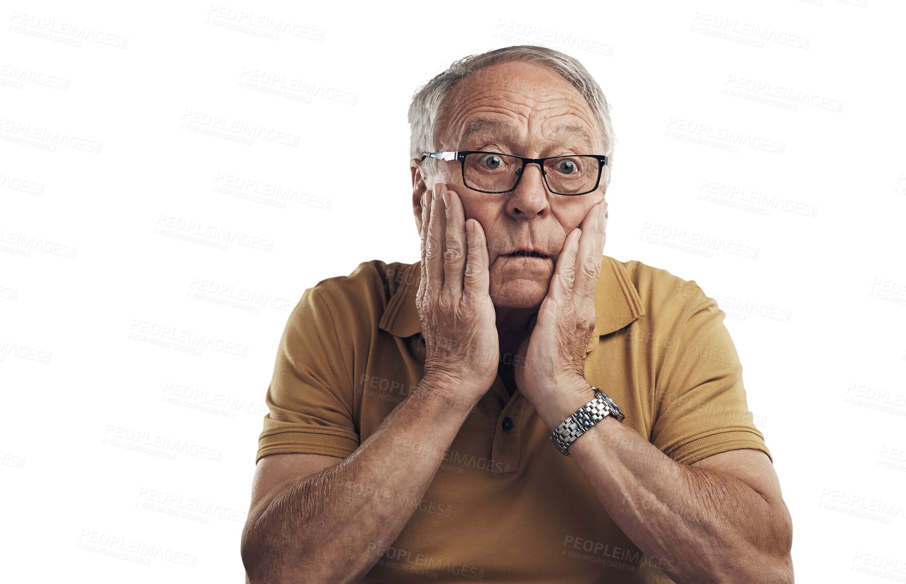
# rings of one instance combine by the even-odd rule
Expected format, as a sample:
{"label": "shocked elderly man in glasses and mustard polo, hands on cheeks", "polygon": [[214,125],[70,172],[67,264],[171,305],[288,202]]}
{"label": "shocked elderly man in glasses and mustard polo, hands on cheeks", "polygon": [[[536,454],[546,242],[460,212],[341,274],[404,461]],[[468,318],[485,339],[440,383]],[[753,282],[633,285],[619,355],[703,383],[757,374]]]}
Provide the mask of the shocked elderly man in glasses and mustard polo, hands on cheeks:
{"label": "shocked elderly man in glasses and mustard polo, hands on cheeks", "polygon": [[250,582],[792,582],[725,316],[602,254],[613,131],[581,63],[513,46],[410,108],[418,263],[286,324]]}

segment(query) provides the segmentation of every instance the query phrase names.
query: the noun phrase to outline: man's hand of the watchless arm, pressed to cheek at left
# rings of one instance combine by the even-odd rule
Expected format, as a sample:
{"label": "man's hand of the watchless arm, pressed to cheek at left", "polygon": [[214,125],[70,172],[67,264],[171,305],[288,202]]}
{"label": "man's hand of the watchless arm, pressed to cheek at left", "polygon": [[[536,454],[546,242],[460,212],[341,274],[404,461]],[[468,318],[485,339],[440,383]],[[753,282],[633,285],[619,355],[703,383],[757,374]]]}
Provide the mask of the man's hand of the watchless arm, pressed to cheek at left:
{"label": "man's hand of the watchless arm, pressed to cheek at left", "polygon": [[476,219],[466,221],[458,194],[437,183],[422,196],[419,233],[425,377],[448,388],[444,397],[474,406],[494,383],[500,359],[485,231]]}

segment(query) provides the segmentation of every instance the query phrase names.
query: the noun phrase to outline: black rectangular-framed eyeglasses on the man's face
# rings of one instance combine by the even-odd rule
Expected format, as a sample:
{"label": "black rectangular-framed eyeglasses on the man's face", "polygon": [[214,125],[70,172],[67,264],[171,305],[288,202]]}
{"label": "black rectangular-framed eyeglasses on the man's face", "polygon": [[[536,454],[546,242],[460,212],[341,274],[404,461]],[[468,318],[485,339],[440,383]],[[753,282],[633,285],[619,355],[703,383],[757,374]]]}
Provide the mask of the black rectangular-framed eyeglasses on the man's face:
{"label": "black rectangular-framed eyeglasses on the man's face", "polygon": [[607,164],[607,157],[602,154],[525,158],[485,150],[422,152],[421,159],[425,158],[458,160],[463,184],[479,193],[492,194],[514,190],[525,174],[525,166],[537,164],[547,189],[554,195],[585,195],[598,188]]}

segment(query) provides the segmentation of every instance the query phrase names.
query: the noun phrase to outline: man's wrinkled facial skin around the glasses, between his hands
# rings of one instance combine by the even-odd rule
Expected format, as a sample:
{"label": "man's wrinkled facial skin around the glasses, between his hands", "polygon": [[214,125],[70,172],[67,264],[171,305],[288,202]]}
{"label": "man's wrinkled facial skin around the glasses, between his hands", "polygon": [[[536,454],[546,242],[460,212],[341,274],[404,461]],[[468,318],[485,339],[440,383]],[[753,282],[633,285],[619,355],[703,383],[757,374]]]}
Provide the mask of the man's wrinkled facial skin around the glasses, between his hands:
{"label": "man's wrinkled facial skin around the glasses, between his hands", "polygon": [[[479,118],[511,128],[484,124],[476,129],[474,122]],[[561,125],[583,129],[590,140],[583,138],[581,130],[557,133]],[[434,144],[438,151],[487,150],[530,158],[604,152],[592,110],[579,91],[557,73],[530,62],[497,63],[459,81],[444,101],[438,126],[439,143]],[[456,161],[413,160],[412,164],[429,173],[419,178],[413,169],[417,225],[421,193],[442,182],[462,199],[466,219],[475,218],[485,230],[490,295],[497,307],[540,306],[566,235],[604,198],[603,179],[597,190],[586,195],[554,195],[545,187],[536,164],[523,169],[515,190],[496,195],[463,185]],[[419,184],[421,180],[425,183]],[[507,255],[525,248],[548,257]]]}

